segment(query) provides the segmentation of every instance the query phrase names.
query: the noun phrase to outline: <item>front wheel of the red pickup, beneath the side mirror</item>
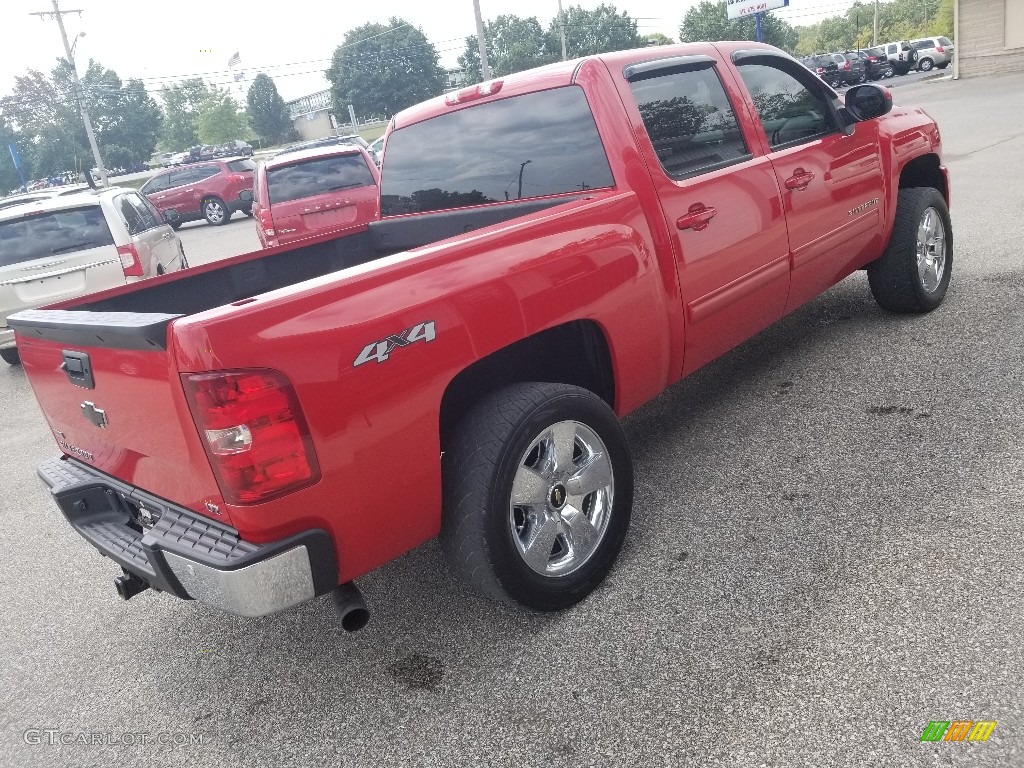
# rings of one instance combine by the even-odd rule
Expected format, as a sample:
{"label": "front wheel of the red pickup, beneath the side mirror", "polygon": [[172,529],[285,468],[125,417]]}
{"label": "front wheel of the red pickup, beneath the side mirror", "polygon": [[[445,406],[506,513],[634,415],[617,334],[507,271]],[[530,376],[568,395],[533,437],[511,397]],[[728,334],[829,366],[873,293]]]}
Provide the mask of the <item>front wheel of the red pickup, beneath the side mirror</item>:
{"label": "front wheel of the red pickup, beneath the side mirror", "polygon": [[[942,225],[942,269],[938,275],[923,275],[919,266],[919,228],[933,211]],[[934,267],[936,258],[928,259],[933,246],[925,249],[926,268]],[[899,190],[896,222],[889,245],[882,257],[867,265],[871,295],[883,309],[903,314],[930,312],[942,303],[953,268],[953,230],[949,210],[938,189],[918,186]],[[934,268],[932,269],[934,271]],[[930,281],[929,278],[935,278]],[[929,282],[934,282],[930,287]]]}

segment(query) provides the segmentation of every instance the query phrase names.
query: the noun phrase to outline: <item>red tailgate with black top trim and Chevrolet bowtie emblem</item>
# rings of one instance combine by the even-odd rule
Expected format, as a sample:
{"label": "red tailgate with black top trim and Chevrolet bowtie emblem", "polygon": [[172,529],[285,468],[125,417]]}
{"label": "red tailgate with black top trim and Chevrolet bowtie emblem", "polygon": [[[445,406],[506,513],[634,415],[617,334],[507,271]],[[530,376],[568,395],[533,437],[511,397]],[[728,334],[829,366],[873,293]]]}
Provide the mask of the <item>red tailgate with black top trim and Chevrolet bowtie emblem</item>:
{"label": "red tailgate with black top trim and Chevrolet bowtie emblem", "polygon": [[65,454],[229,523],[167,351],[178,316],[34,309],[8,323]]}

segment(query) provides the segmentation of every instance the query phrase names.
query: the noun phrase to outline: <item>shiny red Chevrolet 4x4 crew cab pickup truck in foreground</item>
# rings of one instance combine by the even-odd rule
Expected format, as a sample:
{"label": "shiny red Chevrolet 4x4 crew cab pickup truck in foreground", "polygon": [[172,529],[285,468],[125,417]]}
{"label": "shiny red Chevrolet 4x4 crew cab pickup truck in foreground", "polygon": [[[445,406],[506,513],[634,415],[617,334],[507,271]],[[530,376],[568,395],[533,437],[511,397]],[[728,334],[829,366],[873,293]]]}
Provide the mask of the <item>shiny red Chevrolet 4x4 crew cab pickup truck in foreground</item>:
{"label": "shiny red Chevrolet 4x4 crew cab pickup truck in foreground", "polygon": [[754,43],[590,56],[397,115],[383,217],[9,318],[74,528],[260,615],[438,536],[480,592],[584,598],[620,551],[618,418],[858,269],[952,268],[939,130]]}

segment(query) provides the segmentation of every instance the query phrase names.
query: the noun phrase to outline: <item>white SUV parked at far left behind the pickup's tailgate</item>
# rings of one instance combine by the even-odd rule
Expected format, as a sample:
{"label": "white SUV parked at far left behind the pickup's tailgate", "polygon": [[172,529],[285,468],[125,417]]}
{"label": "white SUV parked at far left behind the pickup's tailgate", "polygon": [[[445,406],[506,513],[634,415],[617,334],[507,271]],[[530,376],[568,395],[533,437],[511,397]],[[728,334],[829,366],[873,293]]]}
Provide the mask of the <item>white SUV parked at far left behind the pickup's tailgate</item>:
{"label": "white SUV parked at far left behind the pickup's tailgate", "polygon": [[0,358],[20,361],[7,316],[188,266],[181,241],[134,189],[0,209]]}

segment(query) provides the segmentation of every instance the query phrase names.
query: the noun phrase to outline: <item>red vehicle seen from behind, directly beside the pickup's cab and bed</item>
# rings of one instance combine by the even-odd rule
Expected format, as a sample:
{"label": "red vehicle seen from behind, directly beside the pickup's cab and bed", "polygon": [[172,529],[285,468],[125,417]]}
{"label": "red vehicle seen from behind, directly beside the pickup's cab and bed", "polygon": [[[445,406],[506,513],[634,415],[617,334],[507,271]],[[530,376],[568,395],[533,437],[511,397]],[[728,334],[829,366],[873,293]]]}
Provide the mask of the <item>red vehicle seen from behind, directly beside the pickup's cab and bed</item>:
{"label": "red vehicle seen from behind, directly beside the pickup's cab and bed", "polygon": [[255,181],[253,215],[264,248],[380,218],[380,172],[355,144],[279,155],[260,163]]}

